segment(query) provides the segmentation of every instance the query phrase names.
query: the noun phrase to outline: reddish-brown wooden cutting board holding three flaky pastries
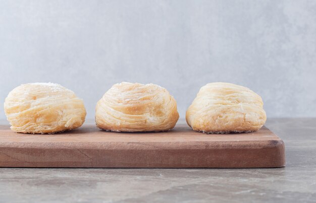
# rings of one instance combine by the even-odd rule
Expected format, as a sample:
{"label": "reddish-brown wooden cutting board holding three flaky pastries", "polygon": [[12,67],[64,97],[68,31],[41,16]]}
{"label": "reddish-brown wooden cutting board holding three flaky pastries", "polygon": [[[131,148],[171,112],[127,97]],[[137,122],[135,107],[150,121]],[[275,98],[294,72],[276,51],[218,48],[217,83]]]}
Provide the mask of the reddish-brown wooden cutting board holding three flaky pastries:
{"label": "reddish-brown wooden cutting board holding three flaky pastries", "polygon": [[0,167],[267,168],[285,166],[283,141],[267,127],[204,134],[108,132],[94,125],[57,134],[23,134],[0,125]]}

